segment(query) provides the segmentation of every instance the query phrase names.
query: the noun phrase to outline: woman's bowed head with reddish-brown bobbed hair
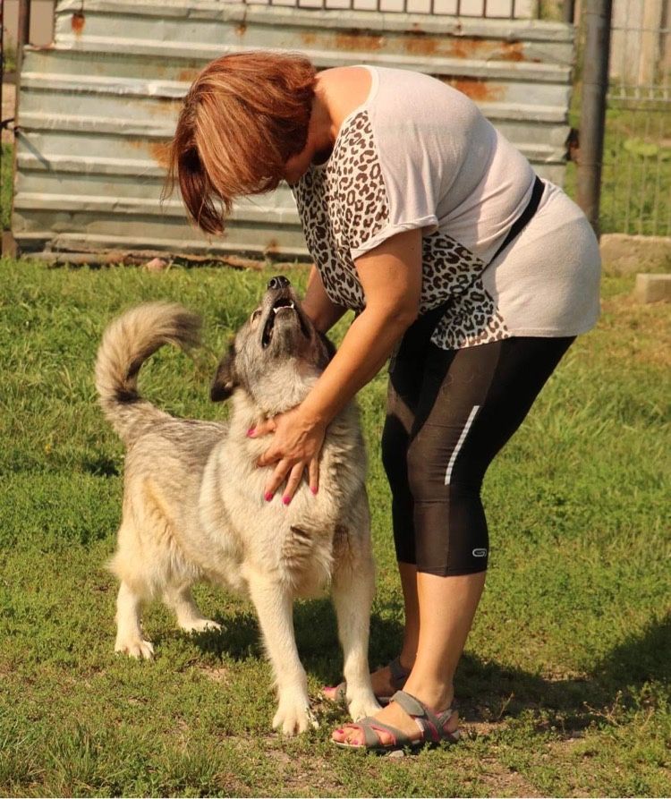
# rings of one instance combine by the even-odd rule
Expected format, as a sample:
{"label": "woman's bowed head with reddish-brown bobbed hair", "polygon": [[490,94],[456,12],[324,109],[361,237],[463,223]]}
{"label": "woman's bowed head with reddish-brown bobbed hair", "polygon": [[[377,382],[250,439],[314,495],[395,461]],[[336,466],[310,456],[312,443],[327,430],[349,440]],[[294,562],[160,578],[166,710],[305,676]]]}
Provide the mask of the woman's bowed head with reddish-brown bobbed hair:
{"label": "woman's bowed head with reddish-brown bobbed hair", "polygon": [[272,191],[305,148],[316,71],[302,55],[223,55],[184,98],[170,154],[189,215],[220,233],[236,197]]}

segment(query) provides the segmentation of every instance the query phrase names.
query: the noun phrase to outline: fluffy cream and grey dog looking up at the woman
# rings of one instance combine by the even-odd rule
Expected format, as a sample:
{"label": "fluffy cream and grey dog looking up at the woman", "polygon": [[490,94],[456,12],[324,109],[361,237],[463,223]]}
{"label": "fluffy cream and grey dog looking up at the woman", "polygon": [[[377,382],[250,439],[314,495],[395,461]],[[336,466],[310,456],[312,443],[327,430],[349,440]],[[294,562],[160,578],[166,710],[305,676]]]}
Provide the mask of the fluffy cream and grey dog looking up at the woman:
{"label": "fluffy cream and grey dog looking up at the woman", "polygon": [[352,718],[378,710],[368,667],[374,592],[365,451],[358,410],[345,406],[327,428],[319,491],[303,482],[290,505],[267,501],[272,467],[256,462],[270,438],[249,438],[260,420],[300,404],[335,349],[302,310],[284,276],[218,364],[215,401],[231,397],[228,422],[178,419],[140,397],[138,372],[163,344],[199,342],[200,318],[154,302],[127,311],[98,350],[96,387],[106,418],[126,446],[123,517],[110,569],[120,581],[115,651],[153,656],[141,608],[162,598],[187,632],[219,629],[191,595],[199,580],[251,599],[273,667],[273,727],[294,735],[315,726],[293,633],[293,600],[330,585],[344,650]]}

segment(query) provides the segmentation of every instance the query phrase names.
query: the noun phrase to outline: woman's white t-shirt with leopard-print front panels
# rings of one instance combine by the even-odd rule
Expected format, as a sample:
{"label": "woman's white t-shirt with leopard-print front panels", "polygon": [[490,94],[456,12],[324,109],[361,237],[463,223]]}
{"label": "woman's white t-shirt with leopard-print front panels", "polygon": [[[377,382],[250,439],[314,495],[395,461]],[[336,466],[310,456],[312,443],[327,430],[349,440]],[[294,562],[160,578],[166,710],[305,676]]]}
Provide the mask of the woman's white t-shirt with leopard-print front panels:
{"label": "woman's white t-shirt with leopard-print front panels", "polygon": [[492,261],[531,199],[531,165],[456,89],[368,69],[366,102],[344,119],[327,162],[292,187],[331,300],[362,310],[354,260],[421,228],[420,313],[450,300],[434,344],[589,330],[599,316],[599,245],[580,208],[547,183],[534,217]]}

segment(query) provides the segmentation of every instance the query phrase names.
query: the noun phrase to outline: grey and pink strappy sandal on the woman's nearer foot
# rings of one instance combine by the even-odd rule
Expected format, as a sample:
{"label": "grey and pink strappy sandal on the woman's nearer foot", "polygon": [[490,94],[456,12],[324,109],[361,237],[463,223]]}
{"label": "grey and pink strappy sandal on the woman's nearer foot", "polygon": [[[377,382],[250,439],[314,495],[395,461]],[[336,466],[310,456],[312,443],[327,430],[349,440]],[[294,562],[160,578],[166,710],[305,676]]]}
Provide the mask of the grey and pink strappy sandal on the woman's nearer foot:
{"label": "grey and pink strappy sandal on the woman's nearer foot", "polygon": [[[436,745],[441,741],[447,741],[449,744],[456,744],[461,737],[459,730],[454,730],[452,733],[446,731],[446,723],[452,717],[454,708],[443,710],[442,713],[435,713],[423,702],[410,693],[405,691],[396,691],[390,701],[395,701],[405,712],[414,719],[417,726],[420,728],[419,738],[410,738],[402,730],[396,727],[391,727],[382,721],[378,721],[373,716],[361,718],[360,721],[352,724],[346,724],[345,727],[351,729],[360,729],[363,733],[363,744],[347,744],[344,741],[333,741],[336,746],[342,746],[344,749],[365,749],[369,752],[395,752],[399,749],[408,747],[412,750],[420,749],[425,744]],[[378,732],[385,732],[391,735],[392,741],[390,744],[383,744]]]}

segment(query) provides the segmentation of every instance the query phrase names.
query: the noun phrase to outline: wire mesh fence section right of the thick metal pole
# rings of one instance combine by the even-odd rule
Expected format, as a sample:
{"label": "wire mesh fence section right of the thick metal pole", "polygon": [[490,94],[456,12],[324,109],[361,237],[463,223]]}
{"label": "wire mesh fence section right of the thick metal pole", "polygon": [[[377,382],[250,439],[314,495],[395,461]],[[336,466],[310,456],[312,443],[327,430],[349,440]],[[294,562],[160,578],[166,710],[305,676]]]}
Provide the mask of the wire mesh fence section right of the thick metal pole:
{"label": "wire mesh fence section right of the thick metal pole", "polygon": [[671,235],[671,28],[662,0],[615,4],[601,192],[604,233]]}

